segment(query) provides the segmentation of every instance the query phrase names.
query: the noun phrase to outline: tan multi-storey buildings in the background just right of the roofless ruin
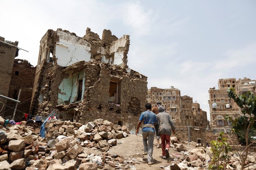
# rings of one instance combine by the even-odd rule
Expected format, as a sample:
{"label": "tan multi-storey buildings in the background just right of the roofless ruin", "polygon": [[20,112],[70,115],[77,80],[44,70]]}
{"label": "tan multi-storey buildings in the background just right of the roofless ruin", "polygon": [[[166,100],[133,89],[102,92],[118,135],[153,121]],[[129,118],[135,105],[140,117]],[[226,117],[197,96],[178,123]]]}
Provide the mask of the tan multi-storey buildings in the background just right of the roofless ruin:
{"label": "tan multi-storey buildings in the background just right of the roofless ruin", "polygon": [[[178,88],[151,87],[147,93],[147,102],[156,105],[157,101],[162,103],[176,126],[207,126],[208,124],[206,112],[200,109],[199,104],[193,103],[192,97],[180,96]],[[199,111],[195,112],[195,108]]]}

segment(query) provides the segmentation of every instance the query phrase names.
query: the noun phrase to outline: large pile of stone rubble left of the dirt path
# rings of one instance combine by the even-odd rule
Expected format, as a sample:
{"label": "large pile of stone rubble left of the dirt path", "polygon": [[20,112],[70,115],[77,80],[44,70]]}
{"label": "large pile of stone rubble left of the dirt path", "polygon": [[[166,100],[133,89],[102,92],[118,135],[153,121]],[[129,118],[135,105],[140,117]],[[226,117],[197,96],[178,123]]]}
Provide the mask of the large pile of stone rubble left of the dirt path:
{"label": "large pile of stone rubble left of the dirt path", "polygon": [[[38,136],[31,126],[4,128],[3,121],[0,124],[1,170],[128,169],[135,164],[107,152],[129,131],[103,119],[85,125],[52,120],[45,124],[46,138]],[[101,152],[94,155],[86,148]]]}

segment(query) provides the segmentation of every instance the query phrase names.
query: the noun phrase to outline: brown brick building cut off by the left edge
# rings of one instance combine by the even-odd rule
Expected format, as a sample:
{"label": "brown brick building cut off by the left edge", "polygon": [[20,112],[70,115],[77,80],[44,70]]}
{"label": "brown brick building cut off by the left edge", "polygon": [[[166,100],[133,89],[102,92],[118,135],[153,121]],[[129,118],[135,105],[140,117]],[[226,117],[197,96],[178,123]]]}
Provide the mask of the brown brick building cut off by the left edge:
{"label": "brown brick building cut off by the left edge", "polygon": [[[19,49],[18,41],[11,42],[0,37],[0,95],[8,96],[9,86],[12,76],[12,68],[14,65],[14,58],[18,56]],[[15,47],[16,46],[16,47]],[[6,104],[7,100],[0,98],[2,104]],[[0,110],[5,110],[5,107],[0,104]]]}

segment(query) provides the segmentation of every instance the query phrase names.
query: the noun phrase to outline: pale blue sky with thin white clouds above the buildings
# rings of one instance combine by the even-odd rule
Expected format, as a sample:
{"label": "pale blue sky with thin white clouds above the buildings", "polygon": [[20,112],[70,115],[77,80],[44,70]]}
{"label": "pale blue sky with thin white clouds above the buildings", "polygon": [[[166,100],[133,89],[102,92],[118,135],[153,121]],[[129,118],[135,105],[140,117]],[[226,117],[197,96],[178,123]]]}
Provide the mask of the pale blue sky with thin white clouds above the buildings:
{"label": "pale blue sky with thin white clouds above the buildings", "polygon": [[209,117],[210,87],[221,78],[256,80],[255,0],[1,0],[0,36],[19,41],[17,58],[36,65],[48,29],[83,37],[130,35],[128,66],[148,88],[174,86]]}

